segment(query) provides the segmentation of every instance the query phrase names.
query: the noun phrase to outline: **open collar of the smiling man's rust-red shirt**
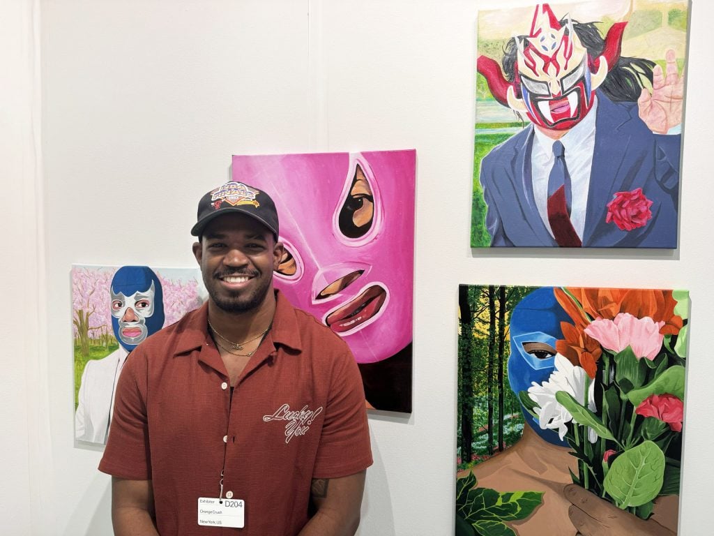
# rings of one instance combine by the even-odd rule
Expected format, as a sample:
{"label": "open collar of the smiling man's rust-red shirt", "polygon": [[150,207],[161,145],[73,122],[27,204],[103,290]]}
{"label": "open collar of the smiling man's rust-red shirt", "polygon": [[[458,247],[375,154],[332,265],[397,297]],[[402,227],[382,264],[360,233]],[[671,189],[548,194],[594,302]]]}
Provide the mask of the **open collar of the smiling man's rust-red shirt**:
{"label": "open collar of the smiling man's rust-red shirt", "polygon": [[[301,350],[302,340],[296,318],[296,309],[279,290],[275,291],[276,307],[273,316],[271,338],[273,344],[282,344],[292,349]],[[211,343],[208,333],[208,302],[186,314],[177,326],[180,337],[175,354],[184,354]]]}

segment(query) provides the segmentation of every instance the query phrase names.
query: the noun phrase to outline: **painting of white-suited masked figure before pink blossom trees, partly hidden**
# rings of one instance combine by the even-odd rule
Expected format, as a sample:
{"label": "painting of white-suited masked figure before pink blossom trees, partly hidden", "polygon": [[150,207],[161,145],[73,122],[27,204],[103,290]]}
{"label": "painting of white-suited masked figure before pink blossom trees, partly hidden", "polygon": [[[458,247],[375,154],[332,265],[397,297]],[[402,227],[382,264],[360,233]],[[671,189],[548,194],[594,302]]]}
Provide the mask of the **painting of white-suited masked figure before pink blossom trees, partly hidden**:
{"label": "painting of white-suited masked figure before pink blossom trees, partly hidden", "polygon": [[198,268],[74,264],[74,437],[104,445],[126,357],[203,302]]}

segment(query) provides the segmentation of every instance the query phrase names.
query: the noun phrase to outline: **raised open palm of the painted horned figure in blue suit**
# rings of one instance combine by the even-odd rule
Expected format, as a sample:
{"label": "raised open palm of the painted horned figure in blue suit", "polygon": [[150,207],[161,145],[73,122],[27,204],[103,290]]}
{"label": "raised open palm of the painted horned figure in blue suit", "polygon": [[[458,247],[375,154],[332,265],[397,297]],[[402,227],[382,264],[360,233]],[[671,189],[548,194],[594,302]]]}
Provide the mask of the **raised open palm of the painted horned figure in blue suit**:
{"label": "raised open palm of the painted horned figure in blue suit", "polygon": [[684,101],[684,75],[677,69],[677,59],[673,50],[665,54],[665,70],[655,65],[652,71],[652,93],[643,88],[637,104],[640,119],[655,134],[666,134],[673,126],[682,122]]}

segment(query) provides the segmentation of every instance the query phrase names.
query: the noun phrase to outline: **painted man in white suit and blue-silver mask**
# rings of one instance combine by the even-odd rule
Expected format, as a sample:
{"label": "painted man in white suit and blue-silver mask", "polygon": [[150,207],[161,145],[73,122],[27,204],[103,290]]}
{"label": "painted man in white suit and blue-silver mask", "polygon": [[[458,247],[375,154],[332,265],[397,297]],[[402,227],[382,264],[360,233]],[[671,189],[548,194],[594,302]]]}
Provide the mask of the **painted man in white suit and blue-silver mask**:
{"label": "painted man in white suit and blue-silver mask", "polygon": [[139,342],[164,325],[164,299],[159,277],[146,266],[123,266],[109,289],[111,327],[119,348],[87,362],[74,415],[74,437],[106,443],[114,393],[126,356]]}

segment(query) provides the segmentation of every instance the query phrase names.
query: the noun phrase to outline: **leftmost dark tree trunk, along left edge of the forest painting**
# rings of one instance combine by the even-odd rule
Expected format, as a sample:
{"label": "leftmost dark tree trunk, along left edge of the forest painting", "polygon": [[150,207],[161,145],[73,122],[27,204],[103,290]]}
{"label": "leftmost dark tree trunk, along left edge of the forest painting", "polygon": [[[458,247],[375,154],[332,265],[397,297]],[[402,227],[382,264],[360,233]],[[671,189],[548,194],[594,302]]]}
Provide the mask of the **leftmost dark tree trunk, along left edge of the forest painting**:
{"label": "leftmost dark tree trunk, along left edge of the forest painting", "polygon": [[473,315],[468,301],[468,285],[458,287],[461,311],[461,462],[473,456]]}

